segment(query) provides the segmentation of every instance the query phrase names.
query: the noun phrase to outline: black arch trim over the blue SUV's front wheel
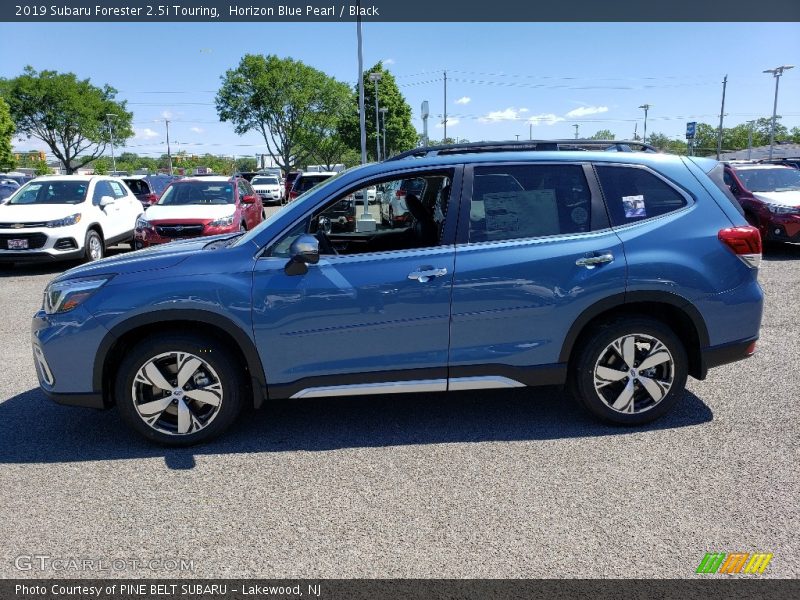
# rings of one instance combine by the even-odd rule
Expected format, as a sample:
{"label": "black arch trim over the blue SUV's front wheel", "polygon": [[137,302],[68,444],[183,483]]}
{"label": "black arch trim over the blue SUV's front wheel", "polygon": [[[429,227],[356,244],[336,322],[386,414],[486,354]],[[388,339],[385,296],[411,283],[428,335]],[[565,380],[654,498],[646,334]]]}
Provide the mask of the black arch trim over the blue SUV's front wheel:
{"label": "black arch trim over the blue SUV's front wheel", "polygon": [[264,373],[261,357],[250,337],[230,319],[217,313],[200,309],[165,309],[148,312],[131,317],[114,325],[103,338],[97,349],[92,373],[92,385],[96,391],[103,390],[103,377],[109,353],[117,341],[125,334],[156,323],[171,323],[173,321],[195,321],[206,323],[223,330],[230,335],[238,345],[247,362],[250,372],[250,387],[253,392],[253,406],[259,408],[267,399],[267,378]]}

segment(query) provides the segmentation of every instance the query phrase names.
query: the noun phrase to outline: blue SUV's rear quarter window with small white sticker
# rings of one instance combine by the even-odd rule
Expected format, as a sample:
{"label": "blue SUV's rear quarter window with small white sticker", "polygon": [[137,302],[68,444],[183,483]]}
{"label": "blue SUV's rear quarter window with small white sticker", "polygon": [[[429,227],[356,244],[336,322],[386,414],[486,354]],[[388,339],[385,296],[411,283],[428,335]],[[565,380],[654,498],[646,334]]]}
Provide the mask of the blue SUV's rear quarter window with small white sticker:
{"label": "blue SUV's rear quarter window with small white sticker", "polygon": [[612,225],[659,217],[688,204],[686,198],[647,169],[596,166]]}

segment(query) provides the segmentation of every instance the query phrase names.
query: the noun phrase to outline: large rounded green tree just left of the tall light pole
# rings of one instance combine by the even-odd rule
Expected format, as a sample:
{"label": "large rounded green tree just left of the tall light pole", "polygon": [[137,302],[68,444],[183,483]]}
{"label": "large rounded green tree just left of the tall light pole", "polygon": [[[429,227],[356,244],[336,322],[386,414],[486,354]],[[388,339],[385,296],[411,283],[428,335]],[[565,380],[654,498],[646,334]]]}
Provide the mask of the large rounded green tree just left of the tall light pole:
{"label": "large rounded green tree just left of the tall light pole", "polygon": [[222,77],[216,106],[236,133],[260,133],[272,159],[288,172],[306,164],[335,129],[348,97],[345,84],[300,61],[247,54]]}

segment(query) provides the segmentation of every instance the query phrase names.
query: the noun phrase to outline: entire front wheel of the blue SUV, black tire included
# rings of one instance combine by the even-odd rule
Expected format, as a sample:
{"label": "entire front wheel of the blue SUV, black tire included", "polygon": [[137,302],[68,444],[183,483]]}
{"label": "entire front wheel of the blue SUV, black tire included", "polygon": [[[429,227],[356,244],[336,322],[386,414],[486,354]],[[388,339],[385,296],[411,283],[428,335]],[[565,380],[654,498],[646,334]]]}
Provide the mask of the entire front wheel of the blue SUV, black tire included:
{"label": "entire front wheel of the blue SUV, black tire included", "polygon": [[[127,353],[117,371],[120,415],[145,438],[167,446],[216,437],[233,424],[244,404],[244,380],[236,363],[228,348],[213,339],[181,334],[147,338]],[[179,376],[183,386],[177,385]],[[159,377],[166,390],[159,387]]]}

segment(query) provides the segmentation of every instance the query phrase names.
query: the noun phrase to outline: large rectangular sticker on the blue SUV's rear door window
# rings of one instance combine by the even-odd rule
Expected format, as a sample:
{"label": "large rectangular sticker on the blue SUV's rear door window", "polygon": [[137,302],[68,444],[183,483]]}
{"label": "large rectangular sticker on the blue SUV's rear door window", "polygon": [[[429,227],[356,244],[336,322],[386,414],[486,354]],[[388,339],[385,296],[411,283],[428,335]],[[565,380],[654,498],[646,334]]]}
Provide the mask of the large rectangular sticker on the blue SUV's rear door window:
{"label": "large rectangular sticker on the blue SUV's rear door window", "polygon": [[502,237],[537,237],[558,233],[555,190],[484,194],[486,232]]}

